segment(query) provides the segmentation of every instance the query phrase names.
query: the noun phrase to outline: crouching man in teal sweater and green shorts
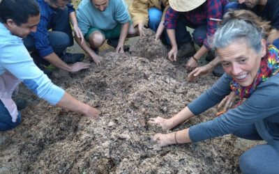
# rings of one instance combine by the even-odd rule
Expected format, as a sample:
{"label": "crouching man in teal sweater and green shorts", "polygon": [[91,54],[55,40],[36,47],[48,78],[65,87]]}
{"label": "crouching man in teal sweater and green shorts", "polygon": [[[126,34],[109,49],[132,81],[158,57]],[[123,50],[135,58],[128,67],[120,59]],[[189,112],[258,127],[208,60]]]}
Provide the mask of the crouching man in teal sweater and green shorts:
{"label": "crouching man in teal sweater and green shorts", "polygon": [[127,4],[123,0],[83,0],[77,8],[77,22],[90,47],[86,43],[81,44],[79,38],[76,40],[97,65],[103,60],[97,55],[98,47],[106,39],[110,41],[119,38],[118,44],[114,45],[116,52],[124,52],[123,45],[127,35],[136,34],[130,25]]}

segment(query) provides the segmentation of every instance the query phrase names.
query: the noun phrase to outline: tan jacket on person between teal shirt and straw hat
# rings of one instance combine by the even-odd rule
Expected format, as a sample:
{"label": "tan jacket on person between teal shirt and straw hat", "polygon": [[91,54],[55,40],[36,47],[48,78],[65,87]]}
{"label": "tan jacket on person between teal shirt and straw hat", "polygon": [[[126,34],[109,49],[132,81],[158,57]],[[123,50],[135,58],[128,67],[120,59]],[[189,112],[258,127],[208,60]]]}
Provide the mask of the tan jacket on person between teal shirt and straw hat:
{"label": "tan jacket on person between teal shirt and straw hat", "polygon": [[165,13],[169,8],[168,0],[133,0],[129,10],[134,26],[137,26],[137,24],[140,23],[147,26],[149,22],[148,9],[151,7],[156,7],[159,10],[162,10],[160,6],[160,1],[162,1],[163,6],[165,6],[165,10],[163,11],[163,15],[161,18],[161,21],[164,21]]}

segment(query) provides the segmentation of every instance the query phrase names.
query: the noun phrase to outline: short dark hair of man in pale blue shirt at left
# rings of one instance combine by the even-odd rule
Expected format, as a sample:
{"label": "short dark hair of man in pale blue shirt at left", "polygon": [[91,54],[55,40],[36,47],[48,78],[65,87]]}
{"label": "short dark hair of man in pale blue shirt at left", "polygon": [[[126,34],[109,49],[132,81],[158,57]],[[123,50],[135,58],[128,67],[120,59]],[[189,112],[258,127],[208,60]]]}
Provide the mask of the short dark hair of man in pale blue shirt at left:
{"label": "short dark hair of man in pale blue shirt at left", "polygon": [[40,7],[35,0],[2,0],[0,1],[0,22],[13,19],[17,26],[28,22],[29,17],[38,16]]}

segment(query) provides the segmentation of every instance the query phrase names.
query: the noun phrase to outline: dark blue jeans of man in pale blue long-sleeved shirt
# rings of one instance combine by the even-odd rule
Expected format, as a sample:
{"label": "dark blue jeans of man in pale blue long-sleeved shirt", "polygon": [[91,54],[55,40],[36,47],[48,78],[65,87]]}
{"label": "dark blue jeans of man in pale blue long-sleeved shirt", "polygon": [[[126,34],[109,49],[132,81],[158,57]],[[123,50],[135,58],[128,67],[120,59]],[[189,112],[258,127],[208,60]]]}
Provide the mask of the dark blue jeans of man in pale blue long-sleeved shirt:
{"label": "dark blue jeans of man in pale blue long-sleeved shirt", "polygon": [[13,122],[10,113],[0,100],[0,131],[5,131],[8,129],[13,129],[20,124],[22,120],[20,112],[18,112],[17,121]]}

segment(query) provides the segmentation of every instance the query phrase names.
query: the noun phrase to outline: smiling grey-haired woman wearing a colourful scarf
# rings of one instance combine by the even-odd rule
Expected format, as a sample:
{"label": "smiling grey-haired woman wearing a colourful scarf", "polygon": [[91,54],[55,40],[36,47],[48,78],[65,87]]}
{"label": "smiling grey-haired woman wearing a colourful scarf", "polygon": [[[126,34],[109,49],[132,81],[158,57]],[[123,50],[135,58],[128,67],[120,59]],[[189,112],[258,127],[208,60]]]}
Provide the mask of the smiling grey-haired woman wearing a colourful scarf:
{"label": "smiling grey-haired woman wearing a colourful scarf", "polygon": [[[191,143],[225,134],[243,139],[264,140],[241,155],[243,173],[278,173],[279,171],[279,58],[278,49],[266,45],[269,23],[254,13],[236,10],[223,17],[213,39],[225,73],[204,94],[174,117],[151,118],[151,124],[172,129],[193,116],[218,104],[229,93],[239,103],[223,115],[171,134],[152,137],[159,145]],[[243,98],[247,98],[243,102]]]}

